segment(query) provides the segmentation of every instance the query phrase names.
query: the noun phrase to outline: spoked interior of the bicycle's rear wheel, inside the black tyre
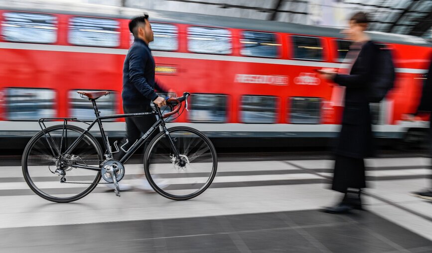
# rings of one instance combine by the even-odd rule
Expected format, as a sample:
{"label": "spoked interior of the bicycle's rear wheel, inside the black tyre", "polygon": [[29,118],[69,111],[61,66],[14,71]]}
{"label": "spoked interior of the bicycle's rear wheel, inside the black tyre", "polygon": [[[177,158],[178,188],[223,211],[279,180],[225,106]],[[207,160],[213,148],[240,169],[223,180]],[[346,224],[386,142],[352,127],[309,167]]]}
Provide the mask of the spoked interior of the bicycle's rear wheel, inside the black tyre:
{"label": "spoked interior of the bicycle's rear wheel, inside the black tyre", "polygon": [[[69,130],[69,131],[68,131]],[[68,199],[76,197],[82,193],[85,193],[94,187],[92,184],[95,180],[98,180],[99,172],[89,169],[77,169],[75,165],[87,166],[89,161],[94,161],[90,164],[99,164],[101,161],[100,151],[94,140],[90,139],[88,136],[84,136],[78,145],[74,148],[73,154],[76,155],[78,159],[74,162],[68,162],[65,160],[66,165],[64,170],[66,172],[66,183],[61,183],[60,178],[57,174],[52,172],[56,170],[56,157],[53,157],[50,146],[54,146],[55,152],[58,152],[58,147],[62,144],[62,151],[68,148],[71,141],[68,138],[76,139],[81,134],[81,132],[71,129],[71,128],[54,128],[46,132],[48,138],[42,134],[39,139],[35,140],[31,146],[29,152],[27,153],[27,171],[28,179],[32,181],[33,189],[38,192],[43,193],[45,196],[49,196],[52,199]],[[72,186],[73,182],[85,183],[86,186]],[[71,182],[71,183],[68,183]],[[88,183],[90,182],[90,183]],[[61,190],[57,190],[61,189]],[[55,200],[52,200],[55,201]]]}

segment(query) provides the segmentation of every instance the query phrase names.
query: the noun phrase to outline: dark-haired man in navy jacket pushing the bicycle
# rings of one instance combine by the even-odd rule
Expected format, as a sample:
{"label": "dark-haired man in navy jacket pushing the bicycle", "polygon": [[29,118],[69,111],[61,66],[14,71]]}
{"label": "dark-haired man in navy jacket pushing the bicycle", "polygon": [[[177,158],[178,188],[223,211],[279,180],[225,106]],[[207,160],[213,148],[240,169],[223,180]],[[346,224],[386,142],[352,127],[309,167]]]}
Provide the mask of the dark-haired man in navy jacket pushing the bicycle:
{"label": "dark-haired man in navy jacket pushing the bicycle", "polygon": [[[151,101],[158,107],[166,105],[163,97],[157,95],[154,91],[167,91],[157,84],[154,80],[155,64],[151,50],[148,43],[153,41],[153,31],[151,30],[150,22],[148,22],[148,15],[133,18],[129,22],[129,30],[134,35],[134,43],[130,47],[126,55],[125,63],[123,65],[123,111],[125,113],[139,113],[151,112]],[[128,144],[123,148],[127,151],[136,140],[148,131],[148,129],[156,122],[156,115],[149,114],[140,117],[126,118],[126,130]],[[147,137],[147,140],[157,134],[157,131],[152,136]],[[148,141],[145,143],[144,149]],[[123,150],[117,154],[116,158],[120,160],[125,155]],[[149,190],[151,189],[145,178],[137,179],[139,182],[133,183],[138,188]],[[110,188],[114,186],[108,184]],[[121,190],[128,190],[131,186],[121,184]]]}

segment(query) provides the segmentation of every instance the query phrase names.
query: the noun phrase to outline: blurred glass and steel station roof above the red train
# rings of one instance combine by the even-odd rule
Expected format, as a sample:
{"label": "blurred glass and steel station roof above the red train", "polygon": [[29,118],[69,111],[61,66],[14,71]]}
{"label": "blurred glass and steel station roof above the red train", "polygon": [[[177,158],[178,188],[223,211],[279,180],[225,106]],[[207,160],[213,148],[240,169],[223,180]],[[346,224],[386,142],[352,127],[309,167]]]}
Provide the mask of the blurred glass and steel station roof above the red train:
{"label": "blurred glass and steel station roof above the red train", "polygon": [[371,14],[370,30],[432,38],[432,0],[0,0],[12,5],[90,4],[345,27],[355,11]]}

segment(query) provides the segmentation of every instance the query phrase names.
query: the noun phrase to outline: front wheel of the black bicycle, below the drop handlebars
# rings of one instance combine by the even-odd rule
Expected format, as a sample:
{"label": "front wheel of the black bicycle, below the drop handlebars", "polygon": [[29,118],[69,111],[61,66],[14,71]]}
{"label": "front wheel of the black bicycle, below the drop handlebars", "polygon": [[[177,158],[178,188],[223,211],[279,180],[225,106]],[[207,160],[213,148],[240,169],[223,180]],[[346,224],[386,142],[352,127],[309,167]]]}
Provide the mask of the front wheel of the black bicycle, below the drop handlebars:
{"label": "front wheel of the black bicycle, below the drop handlebars", "polygon": [[[180,159],[172,147],[178,151]],[[144,155],[144,171],[151,187],[174,200],[191,199],[212,183],[217,169],[216,150],[200,131],[173,127],[159,133]]]}

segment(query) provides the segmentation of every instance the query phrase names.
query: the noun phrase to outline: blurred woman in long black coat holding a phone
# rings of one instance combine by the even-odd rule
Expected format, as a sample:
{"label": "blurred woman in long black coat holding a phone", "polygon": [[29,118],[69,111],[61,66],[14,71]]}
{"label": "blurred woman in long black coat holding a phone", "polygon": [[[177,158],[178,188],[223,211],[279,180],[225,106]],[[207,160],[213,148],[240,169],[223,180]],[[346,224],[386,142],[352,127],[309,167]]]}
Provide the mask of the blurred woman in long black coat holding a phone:
{"label": "blurred woman in long black coat holding a phone", "polygon": [[337,140],[332,189],[344,193],[342,201],[326,207],[327,213],[345,213],[362,209],[360,193],[366,187],[364,158],[372,156],[372,129],[368,91],[376,69],[378,47],[365,30],[368,17],[364,12],[354,14],[349,28],[343,32],[354,41],[347,53],[350,66],[347,74],[319,70],[320,77],[345,87],[342,128]]}

